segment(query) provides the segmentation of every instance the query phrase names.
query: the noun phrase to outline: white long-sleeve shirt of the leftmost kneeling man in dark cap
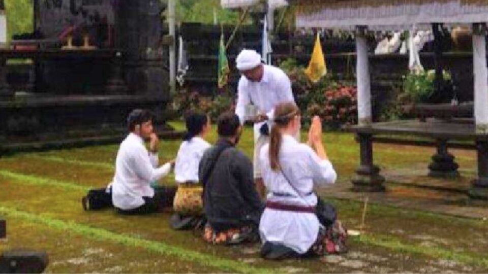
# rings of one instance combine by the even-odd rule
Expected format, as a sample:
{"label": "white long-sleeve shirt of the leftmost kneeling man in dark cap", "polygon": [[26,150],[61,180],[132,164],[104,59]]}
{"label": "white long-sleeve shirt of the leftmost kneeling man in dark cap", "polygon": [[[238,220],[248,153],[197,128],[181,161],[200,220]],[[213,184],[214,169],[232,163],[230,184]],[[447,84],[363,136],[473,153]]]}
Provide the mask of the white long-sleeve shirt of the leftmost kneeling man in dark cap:
{"label": "white long-sleeve shirt of the leftmost kneeling man in dark cap", "polygon": [[144,141],[130,133],[120,144],[112,181],[112,202],[116,208],[131,210],[144,204],[142,197],[153,197],[150,183],[166,176],[171,164],[158,168],[158,155],[149,153]]}

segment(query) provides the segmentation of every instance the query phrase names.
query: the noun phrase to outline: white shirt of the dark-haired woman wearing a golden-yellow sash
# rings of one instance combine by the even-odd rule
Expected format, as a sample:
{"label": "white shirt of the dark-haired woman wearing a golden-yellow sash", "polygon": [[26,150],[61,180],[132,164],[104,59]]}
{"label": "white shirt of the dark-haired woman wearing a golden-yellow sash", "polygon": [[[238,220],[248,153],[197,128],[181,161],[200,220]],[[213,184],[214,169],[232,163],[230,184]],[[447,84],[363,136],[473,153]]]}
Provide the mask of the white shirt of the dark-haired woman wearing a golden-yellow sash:
{"label": "white shirt of the dark-haired woman wearing a golden-yellow sash", "polygon": [[203,153],[210,147],[199,136],[181,143],[174,166],[174,179],[177,183],[198,182],[198,165]]}

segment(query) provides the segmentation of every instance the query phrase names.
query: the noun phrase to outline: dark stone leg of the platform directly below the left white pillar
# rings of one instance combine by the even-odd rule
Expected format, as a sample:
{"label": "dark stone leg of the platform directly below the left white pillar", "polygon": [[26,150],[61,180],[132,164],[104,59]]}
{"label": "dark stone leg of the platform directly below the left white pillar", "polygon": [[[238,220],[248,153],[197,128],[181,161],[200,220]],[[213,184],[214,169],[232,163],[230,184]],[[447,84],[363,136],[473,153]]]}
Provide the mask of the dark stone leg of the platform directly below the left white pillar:
{"label": "dark stone leg of the platform directly below the left white pillar", "polygon": [[358,133],[357,141],[360,149],[360,165],[352,179],[354,191],[377,192],[384,191],[385,178],[379,174],[380,168],[373,164],[373,136]]}

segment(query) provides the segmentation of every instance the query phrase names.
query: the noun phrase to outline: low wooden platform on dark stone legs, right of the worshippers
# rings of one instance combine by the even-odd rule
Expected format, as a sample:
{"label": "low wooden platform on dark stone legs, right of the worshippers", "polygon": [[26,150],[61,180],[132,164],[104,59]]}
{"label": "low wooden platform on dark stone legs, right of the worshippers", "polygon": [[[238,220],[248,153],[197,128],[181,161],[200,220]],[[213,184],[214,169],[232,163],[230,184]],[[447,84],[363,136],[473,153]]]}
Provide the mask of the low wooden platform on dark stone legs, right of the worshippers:
{"label": "low wooden platform on dark stone legs, right of the worshippers", "polygon": [[[356,170],[356,177],[352,180],[354,190],[384,190],[385,179],[379,174],[379,167],[373,163],[373,142],[381,142],[435,146],[437,153],[432,157],[432,163],[429,165],[429,175],[433,177],[459,176],[457,172],[459,165],[454,162],[454,156],[448,153],[448,148],[476,149],[478,178],[472,182],[468,194],[472,198],[483,198],[488,195],[488,135],[477,133],[474,123],[469,120],[427,119],[425,122],[400,120],[373,123],[368,126],[356,125],[346,129],[356,133],[360,145],[360,165]],[[427,140],[403,139],[398,138],[399,135]]]}

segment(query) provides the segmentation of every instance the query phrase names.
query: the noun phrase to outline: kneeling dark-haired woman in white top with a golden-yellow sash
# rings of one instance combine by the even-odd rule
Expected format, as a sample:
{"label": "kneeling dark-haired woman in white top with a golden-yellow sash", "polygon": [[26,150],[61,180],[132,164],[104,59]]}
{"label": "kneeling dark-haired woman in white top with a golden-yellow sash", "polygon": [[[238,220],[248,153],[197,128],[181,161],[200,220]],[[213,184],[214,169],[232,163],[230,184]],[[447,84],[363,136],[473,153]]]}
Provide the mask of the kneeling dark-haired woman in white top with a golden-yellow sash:
{"label": "kneeling dark-haired woman in white top with a golden-yellow sash", "polygon": [[173,209],[180,216],[200,216],[203,213],[202,184],[198,181],[198,165],[210,144],[204,140],[211,129],[210,118],[191,113],[186,118],[187,134],[178,150],[174,169],[178,190]]}

